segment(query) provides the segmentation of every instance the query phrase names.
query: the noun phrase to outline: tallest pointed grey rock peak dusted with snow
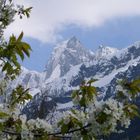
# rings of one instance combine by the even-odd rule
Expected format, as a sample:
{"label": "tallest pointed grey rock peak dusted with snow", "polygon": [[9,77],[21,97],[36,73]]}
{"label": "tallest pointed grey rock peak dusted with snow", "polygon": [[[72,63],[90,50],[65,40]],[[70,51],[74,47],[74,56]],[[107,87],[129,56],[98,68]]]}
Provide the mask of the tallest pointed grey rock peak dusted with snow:
{"label": "tallest pointed grey rock peak dusted with snow", "polygon": [[63,41],[56,45],[49,61],[46,66],[46,79],[55,78],[56,71],[57,77],[65,75],[72,66],[78,65],[83,62],[90,61],[93,57],[92,53],[85,49],[76,37]]}

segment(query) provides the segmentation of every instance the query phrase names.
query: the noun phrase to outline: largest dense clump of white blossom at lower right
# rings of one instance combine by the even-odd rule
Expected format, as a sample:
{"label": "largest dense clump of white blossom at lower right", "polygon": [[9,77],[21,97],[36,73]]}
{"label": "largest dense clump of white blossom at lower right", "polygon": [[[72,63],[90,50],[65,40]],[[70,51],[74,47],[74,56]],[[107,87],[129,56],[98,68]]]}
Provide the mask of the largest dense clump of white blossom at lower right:
{"label": "largest dense clump of white blossom at lower right", "polygon": [[[106,101],[96,101],[92,106],[93,109],[90,111],[89,123],[92,124],[92,132],[95,136],[106,135],[112,132],[118,132],[118,122],[121,126],[128,128],[130,125],[130,118],[124,113],[123,103],[118,102],[115,99],[108,99]],[[106,119],[103,123],[98,122],[100,113],[105,113]],[[119,131],[120,132],[120,131]]]}

